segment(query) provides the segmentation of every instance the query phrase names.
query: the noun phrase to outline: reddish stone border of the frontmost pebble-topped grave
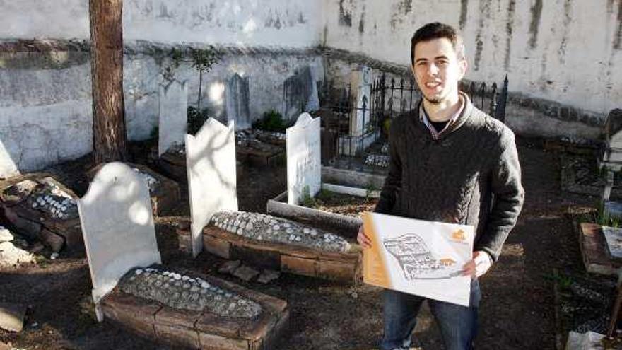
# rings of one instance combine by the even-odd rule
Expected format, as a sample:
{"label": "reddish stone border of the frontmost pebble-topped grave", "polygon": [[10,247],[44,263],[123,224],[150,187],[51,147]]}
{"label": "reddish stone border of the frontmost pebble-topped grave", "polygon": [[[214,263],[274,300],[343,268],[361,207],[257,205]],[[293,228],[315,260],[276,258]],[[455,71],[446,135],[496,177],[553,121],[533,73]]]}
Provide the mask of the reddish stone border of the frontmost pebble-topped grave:
{"label": "reddish stone border of the frontmost pebble-topped grave", "polygon": [[286,301],[211,276],[200,278],[258,303],[262,312],[251,319],[223,317],[206,310],[171,308],[123,293],[119,288],[105,296],[100,307],[113,323],[175,348],[248,350],[274,347],[288,326]]}

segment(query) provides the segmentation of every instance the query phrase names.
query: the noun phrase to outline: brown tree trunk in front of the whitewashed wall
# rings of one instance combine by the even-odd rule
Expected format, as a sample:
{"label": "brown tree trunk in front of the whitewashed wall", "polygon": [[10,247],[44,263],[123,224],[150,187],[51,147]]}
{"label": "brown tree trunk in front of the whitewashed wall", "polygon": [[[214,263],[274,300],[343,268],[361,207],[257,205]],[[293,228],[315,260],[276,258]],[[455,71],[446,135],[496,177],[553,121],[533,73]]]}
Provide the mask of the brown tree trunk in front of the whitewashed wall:
{"label": "brown tree trunk in front of the whitewashed wall", "polygon": [[95,164],[124,161],[122,0],[89,0]]}

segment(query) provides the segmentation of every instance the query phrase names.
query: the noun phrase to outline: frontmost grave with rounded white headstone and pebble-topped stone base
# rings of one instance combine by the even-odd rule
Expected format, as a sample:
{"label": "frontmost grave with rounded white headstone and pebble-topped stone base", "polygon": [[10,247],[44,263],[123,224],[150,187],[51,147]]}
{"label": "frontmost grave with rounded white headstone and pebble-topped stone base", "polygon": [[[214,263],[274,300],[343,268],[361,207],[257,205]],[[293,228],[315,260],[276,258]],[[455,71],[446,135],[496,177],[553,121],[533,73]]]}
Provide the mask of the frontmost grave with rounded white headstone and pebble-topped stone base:
{"label": "frontmost grave with rounded white headstone and pebble-topped stone base", "polygon": [[108,163],[78,201],[98,320],[194,349],[270,349],[287,303],[235,284],[158,265],[148,187]]}

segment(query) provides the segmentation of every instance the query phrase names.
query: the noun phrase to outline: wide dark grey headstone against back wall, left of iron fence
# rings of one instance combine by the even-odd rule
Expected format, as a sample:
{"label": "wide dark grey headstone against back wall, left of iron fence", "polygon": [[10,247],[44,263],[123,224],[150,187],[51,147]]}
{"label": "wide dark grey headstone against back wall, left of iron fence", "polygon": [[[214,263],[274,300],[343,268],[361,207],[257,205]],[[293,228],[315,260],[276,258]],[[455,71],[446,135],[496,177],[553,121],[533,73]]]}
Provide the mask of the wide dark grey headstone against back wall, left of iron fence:
{"label": "wide dark grey headstone against back wall, left of iron fence", "polygon": [[283,83],[283,117],[291,119],[300,112],[319,110],[317,83],[311,68],[305,66]]}

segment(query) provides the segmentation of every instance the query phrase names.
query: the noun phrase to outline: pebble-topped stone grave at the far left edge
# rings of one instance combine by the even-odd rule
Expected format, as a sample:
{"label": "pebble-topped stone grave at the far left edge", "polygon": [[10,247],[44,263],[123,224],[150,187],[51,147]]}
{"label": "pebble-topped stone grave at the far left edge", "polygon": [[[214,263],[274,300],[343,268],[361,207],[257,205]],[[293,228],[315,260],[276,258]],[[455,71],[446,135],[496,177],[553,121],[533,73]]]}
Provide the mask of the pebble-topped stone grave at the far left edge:
{"label": "pebble-topped stone grave at the far left edge", "polygon": [[53,252],[83,251],[76,194],[52,177],[31,177],[4,188],[0,206],[20,235]]}

